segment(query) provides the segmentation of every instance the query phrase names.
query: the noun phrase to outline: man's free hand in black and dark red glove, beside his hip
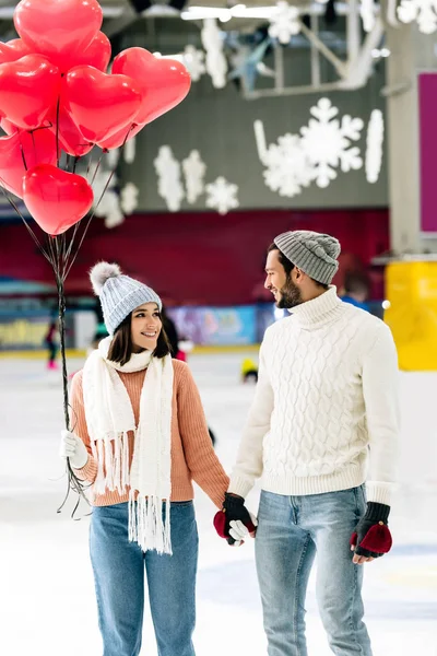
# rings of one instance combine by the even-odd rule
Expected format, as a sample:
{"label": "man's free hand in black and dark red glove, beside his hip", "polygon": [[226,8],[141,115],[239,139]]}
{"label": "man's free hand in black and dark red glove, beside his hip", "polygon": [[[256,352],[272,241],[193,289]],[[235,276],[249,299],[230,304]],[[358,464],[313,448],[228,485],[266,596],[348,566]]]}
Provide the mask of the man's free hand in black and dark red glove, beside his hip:
{"label": "man's free hand in black and dark red glove, beside his hip", "polygon": [[380,558],[391,549],[392,540],[388,527],[390,506],[370,501],[364,517],[356,525],[351,536],[353,562],[362,565],[375,558]]}

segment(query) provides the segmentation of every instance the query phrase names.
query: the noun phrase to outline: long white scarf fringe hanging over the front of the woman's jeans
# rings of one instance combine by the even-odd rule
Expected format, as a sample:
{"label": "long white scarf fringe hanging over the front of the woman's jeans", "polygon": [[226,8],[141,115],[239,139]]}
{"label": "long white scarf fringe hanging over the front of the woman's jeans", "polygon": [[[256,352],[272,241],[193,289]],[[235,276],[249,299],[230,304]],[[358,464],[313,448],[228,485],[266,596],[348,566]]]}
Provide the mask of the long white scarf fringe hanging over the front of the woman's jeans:
{"label": "long white scarf fringe hanging over the front of the woman's jeans", "polygon": [[[165,518],[163,520],[163,503]],[[172,555],[170,502],[157,496],[141,496],[133,490],[129,494],[129,541],[138,542],[143,551]]]}

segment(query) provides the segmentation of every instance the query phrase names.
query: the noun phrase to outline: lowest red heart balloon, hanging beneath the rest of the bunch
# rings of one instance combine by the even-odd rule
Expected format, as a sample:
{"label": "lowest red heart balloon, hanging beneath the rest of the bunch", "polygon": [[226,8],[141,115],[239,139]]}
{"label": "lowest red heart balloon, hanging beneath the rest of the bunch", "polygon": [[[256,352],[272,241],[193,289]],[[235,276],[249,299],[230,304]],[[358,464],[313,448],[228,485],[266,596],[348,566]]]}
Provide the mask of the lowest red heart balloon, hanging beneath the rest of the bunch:
{"label": "lowest red heart balloon, hanging beneath the rest of the bunch", "polygon": [[83,219],[93,199],[85,178],[49,164],[34,166],[23,178],[23,200],[49,235],[60,235]]}

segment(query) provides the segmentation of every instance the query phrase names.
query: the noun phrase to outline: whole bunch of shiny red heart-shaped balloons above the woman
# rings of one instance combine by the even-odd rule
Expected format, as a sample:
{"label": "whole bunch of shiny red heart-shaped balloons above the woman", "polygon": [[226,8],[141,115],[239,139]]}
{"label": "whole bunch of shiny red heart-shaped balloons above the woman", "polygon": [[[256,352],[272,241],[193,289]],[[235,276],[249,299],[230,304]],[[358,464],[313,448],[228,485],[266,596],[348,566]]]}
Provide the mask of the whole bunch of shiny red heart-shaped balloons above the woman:
{"label": "whole bunch of shiny red heart-shaped balloons above the woman", "polygon": [[122,145],[180,103],[190,75],[178,61],[128,48],[108,67],[97,0],[21,0],[20,38],[0,44],[0,185],[22,198],[35,221],[58,235],[93,204],[86,179],[58,167],[64,151]]}

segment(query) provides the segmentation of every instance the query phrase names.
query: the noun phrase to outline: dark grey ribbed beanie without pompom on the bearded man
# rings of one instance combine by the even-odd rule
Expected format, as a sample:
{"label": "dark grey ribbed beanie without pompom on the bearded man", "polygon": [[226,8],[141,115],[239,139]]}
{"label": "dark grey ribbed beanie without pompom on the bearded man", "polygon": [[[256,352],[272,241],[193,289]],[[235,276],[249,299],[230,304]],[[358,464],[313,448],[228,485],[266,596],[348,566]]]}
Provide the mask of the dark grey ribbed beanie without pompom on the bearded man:
{"label": "dark grey ribbed beanie without pompom on the bearded man", "polygon": [[295,230],[282,233],[273,241],[281,253],[304,273],[317,282],[331,283],[339,269],[336,258],[341,251],[335,237],[310,230]]}

